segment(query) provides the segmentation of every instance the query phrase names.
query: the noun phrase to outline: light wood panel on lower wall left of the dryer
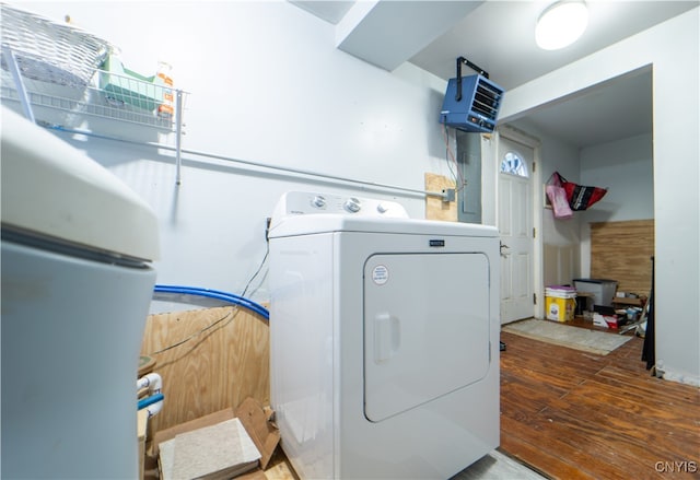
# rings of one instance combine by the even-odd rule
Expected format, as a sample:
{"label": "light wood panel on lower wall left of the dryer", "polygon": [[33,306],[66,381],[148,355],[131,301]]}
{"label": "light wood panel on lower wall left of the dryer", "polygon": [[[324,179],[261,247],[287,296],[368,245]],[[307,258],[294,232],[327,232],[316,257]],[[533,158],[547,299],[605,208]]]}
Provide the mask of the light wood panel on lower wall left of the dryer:
{"label": "light wood panel on lower wall left of the dryer", "polygon": [[150,315],[141,354],[155,359],[163,409],[149,420],[158,432],[246,397],[270,402],[267,320],[234,306]]}

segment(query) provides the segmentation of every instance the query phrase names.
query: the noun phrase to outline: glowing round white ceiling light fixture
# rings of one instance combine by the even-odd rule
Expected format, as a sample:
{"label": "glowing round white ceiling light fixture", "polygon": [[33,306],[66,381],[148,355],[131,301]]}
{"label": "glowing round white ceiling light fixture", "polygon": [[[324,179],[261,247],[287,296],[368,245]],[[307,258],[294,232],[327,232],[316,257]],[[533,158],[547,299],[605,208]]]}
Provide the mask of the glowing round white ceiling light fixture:
{"label": "glowing round white ceiling light fixture", "polygon": [[588,9],[583,0],[561,0],[539,15],[535,40],[539,48],[558,50],[579,39],[587,24]]}

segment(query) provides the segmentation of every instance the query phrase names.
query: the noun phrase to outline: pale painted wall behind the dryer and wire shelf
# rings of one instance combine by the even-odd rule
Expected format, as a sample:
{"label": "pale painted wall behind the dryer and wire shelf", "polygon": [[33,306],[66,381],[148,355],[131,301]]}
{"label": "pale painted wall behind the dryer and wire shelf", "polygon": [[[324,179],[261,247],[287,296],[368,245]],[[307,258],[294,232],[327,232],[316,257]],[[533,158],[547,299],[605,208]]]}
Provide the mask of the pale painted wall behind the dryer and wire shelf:
{"label": "pale painted wall behind the dryer and wire shelf", "polygon": [[[424,172],[450,176],[438,122],[445,82],[411,65],[389,73],[337,50],[334,26],[289,2],[20,7],[59,22],[70,14],[117,45],[125,66],[144,75],[168,61],[175,86],[189,92],[187,150],[419,190]],[[128,134],[124,125],[110,128]],[[395,199],[424,216],[420,195],[192,154],[184,155],[176,187],[170,152],[62,137],[156,211],[159,283],[240,294],[265,256],[266,218],[287,190]],[[151,140],[174,143],[173,136]],[[254,297],[267,300],[265,282]]]}

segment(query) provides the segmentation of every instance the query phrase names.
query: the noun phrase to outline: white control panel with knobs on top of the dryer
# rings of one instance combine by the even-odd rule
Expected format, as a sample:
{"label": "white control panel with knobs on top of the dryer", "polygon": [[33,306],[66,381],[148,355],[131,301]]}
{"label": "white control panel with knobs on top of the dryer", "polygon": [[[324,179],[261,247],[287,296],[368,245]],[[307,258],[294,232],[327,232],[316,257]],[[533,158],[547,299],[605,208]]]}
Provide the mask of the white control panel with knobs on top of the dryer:
{"label": "white control panel with knobs on top of the dryer", "polygon": [[284,194],[275,208],[272,219],[316,213],[408,219],[406,209],[395,201],[305,191]]}

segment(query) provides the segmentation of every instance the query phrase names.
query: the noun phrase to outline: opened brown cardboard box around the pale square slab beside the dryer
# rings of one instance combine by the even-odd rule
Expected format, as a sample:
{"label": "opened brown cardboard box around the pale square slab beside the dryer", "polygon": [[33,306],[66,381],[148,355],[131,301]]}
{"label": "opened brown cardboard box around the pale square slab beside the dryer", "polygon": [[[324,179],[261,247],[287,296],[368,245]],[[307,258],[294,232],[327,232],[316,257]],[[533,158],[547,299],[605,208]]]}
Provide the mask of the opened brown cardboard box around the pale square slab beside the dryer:
{"label": "opened brown cardboard box around the pale square slab beside the dryer", "polygon": [[262,406],[260,406],[255,399],[248,397],[238,406],[238,408],[236,408],[235,411],[232,408],[228,408],[155,433],[155,435],[153,435],[153,442],[151,443],[150,455],[158,458],[159,445],[162,442],[175,438],[178,434],[202,429],[205,426],[215,425],[217,423],[237,418],[241,423],[243,423],[248,436],[250,436],[250,440],[253,440],[253,443],[255,443],[255,446],[260,452],[259,467],[256,470],[242,475],[237,478],[242,480],[266,480],[266,476],[262,470],[267,468],[270,458],[275,453],[275,448],[277,448],[280,441],[280,432],[270,421],[271,417],[272,410],[269,408],[262,408]]}

